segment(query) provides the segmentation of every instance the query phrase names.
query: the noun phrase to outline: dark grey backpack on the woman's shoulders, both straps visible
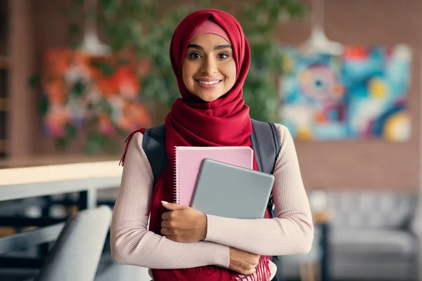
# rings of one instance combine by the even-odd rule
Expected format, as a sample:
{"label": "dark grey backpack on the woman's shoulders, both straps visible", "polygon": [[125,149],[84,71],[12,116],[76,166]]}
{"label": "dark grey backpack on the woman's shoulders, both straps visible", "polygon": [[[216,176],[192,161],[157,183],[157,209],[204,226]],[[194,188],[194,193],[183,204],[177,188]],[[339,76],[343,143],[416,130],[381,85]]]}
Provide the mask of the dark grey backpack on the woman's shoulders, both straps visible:
{"label": "dark grey backpack on the woman's shoulders, both straps visible", "polygon": [[[274,123],[260,122],[252,119],[250,141],[255,151],[259,170],[267,174],[273,174],[276,159],[281,149],[279,132]],[[165,125],[145,129],[143,132],[142,149],[151,164],[155,183],[168,163],[165,150]],[[271,215],[274,217],[275,208],[272,200],[272,192],[268,207]]]}

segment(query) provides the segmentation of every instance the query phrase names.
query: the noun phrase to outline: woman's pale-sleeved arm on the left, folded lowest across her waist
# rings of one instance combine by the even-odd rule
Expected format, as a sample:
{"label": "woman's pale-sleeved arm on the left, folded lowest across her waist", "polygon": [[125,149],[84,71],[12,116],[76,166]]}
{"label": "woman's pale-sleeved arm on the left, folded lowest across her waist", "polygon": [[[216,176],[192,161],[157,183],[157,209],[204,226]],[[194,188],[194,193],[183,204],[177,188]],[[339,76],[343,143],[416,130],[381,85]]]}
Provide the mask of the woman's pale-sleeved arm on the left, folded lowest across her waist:
{"label": "woman's pale-sleeved arm on the left, folded lowest across her waist", "polygon": [[153,172],[142,150],[141,133],[129,143],[122,183],[113,210],[113,261],[146,268],[229,267],[229,247],[215,242],[182,244],[147,230]]}

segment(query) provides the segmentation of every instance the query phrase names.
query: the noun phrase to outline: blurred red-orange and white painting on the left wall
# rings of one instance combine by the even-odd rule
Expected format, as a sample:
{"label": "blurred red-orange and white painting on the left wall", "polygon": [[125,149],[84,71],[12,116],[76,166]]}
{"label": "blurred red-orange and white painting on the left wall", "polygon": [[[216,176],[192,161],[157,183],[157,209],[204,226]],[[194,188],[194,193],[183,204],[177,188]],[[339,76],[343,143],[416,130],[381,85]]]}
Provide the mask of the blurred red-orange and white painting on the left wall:
{"label": "blurred red-orange and white painting on the left wall", "polygon": [[148,64],[130,53],[93,57],[68,48],[47,51],[41,72],[44,133],[68,141],[87,136],[94,148],[118,133],[151,126],[140,95],[146,72]]}

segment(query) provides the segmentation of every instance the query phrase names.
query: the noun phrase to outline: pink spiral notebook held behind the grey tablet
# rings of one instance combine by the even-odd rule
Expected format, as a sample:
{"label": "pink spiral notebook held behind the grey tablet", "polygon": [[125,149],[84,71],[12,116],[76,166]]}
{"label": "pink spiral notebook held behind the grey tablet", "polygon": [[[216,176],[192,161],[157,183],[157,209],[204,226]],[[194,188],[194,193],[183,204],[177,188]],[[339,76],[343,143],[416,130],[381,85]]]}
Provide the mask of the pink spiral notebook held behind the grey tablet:
{"label": "pink spiral notebook held behind the grey tablet", "polygon": [[253,169],[253,150],[247,146],[176,146],[175,150],[174,202],[185,206],[191,206],[203,159]]}

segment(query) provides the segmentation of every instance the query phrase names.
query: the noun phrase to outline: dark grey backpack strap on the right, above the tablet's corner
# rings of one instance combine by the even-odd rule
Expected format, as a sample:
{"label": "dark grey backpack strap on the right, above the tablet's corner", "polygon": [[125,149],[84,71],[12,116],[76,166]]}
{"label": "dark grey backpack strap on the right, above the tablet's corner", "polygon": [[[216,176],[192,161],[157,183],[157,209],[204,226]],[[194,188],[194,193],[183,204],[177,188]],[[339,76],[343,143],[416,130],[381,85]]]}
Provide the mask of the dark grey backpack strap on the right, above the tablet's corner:
{"label": "dark grey backpack strap on the right, above the tablet's corner", "polygon": [[274,123],[252,119],[252,141],[260,171],[272,174],[279,156],[281,145],[279,133]]}

